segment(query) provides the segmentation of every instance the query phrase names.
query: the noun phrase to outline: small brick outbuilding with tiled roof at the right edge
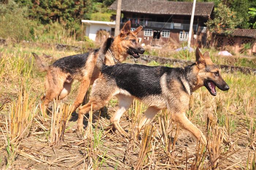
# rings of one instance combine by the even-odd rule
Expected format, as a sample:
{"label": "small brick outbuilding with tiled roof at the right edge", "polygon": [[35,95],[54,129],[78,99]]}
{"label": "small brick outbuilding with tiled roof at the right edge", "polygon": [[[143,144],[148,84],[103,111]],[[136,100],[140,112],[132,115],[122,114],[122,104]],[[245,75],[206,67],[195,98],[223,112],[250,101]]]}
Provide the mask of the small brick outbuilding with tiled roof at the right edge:
{"label": "small brick outbuilding with tiled roof at the right edge", "polygon": [[256,54],[256,29],[235,29],[229,36],[213,34],[211,42],[220,50],[230,46],[235,53]]}

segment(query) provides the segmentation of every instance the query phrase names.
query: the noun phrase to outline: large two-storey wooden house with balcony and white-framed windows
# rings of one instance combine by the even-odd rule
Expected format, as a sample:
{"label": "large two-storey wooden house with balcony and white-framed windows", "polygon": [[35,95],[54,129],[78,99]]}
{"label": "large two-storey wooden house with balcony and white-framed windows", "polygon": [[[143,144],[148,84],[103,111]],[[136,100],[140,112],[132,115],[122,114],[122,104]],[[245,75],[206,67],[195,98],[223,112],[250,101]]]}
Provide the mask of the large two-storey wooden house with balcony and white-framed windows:
{"label": "large two-storey wooden house with balcony and white-framed windows", "polygon": [[[192,2],[167,0],[129,0],[122,1],[121,24],[128,20],[132,30],[143,26],[138,37],[145,45],[182,44],[187,41],[189,23],[192,12]],[[116,10],[117,0],[110,5],[110,10]],[[206,43],[206,25],[214,9],[213,2],[197,2],[193,21],[192,45],[201,46]]]}

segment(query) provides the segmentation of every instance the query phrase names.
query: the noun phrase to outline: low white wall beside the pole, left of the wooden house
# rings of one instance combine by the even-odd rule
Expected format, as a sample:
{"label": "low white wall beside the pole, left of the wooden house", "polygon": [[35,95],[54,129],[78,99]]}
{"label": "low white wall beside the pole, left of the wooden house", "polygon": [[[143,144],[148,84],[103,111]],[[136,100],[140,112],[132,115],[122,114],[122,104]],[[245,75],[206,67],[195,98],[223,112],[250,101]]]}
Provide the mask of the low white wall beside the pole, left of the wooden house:
{"label": "low white wall beside the pole, left of the wooden house", "polygon": [[85,35],[88,36],[91,40],[95,41],[96,33],[100,29],[111,32],[111,26],[108,26],[106,24],[94,24],[94,23],[92,23],[91,25],[86,24],[86,33],[85,33]]}

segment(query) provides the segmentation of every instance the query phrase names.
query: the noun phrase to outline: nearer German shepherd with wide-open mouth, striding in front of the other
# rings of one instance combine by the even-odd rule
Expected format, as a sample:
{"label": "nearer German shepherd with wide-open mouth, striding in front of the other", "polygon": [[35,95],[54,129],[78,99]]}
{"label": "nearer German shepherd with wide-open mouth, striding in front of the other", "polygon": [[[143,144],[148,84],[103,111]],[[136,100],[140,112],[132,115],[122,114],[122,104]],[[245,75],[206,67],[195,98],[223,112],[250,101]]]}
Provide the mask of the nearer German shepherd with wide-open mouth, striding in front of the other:
{"label": "nearer German shepherd with wide-open mouth, striding in front of the other", "polygon": [[[104,54],[100,54],[104,57]],[[221,77],[221,71],[212,63],[210,54],[201,54],[196,48],[196,62],[182,68],[150,67],[138,64],[105,65],[98,60],[97,67],[101,75],[92,88],[89,103],[79,107],[78,128],[82,127],[83,114],[105,106],[111,98],[117,97],[119,104],[114,116],[110,118],[113,128],[123,136],[127,136],[119,121],[122,114],[131,106],[136,98],[148,105],[141,118],[137,135],[145,124],[161,109],[168,109],[172,119],[191,132],[198,140],[207,143],[206,137],[185,115],[189,98],[199,87],[205,86],[211,95],[216,96],[215,87],[220,90],[229,90],[229,86]]]}

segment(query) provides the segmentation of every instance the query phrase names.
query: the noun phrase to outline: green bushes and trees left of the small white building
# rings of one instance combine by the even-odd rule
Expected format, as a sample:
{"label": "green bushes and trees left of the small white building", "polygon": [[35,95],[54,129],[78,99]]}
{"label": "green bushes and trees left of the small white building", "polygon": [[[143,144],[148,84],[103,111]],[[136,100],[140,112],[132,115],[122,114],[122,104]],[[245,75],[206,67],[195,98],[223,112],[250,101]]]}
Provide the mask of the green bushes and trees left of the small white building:
{"label": "green bushes and trees left of the small white building", "polygon": [[114,12],[106,4],[112,2],[0,1],[0,38],[64,44],[86,40],[86,37],[81,39],[81,19],[110,21]]}

